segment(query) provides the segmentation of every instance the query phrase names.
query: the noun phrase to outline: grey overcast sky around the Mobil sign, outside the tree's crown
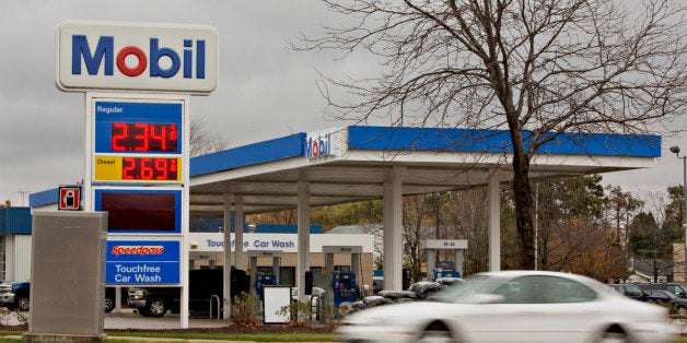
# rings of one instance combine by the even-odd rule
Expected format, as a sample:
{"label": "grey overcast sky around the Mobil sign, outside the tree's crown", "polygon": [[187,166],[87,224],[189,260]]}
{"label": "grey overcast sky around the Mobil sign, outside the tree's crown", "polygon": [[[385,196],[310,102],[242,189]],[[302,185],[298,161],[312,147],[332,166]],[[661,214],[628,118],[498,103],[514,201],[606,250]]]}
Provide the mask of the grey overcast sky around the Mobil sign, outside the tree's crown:
{"label": "grey overcast sky around the Mobil sign, outside the tree's crown", "polygon": [[[230,146],[348,123],[326,120],[316,70],[335,76],[374,72],[370,60],[287,48],[300,32],[316,33],[330,15],[307,0],[0,1],[0,200],[83,178],[84,95],[55,86],[55,35],[65,20],[208,24],[220,37],[220,75],[190,111]],[[685,121],[679,123],[683,128]],[[668,151],[687,139],[664,138],[655,167],[604,176],[631,191],[683,182]]]}

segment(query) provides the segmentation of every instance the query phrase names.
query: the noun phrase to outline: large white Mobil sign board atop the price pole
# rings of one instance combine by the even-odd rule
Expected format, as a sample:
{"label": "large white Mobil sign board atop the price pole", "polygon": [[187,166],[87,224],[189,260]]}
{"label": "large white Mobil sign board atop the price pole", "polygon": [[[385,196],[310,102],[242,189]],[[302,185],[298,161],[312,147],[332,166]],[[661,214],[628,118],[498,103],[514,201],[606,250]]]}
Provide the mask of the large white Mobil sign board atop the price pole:
{"label": "large white Mobil sign board atop the price pole", "polygon": [[217,87],[218,51],[212,26],[68,21],[57,34],[57,85],[207,95]]}

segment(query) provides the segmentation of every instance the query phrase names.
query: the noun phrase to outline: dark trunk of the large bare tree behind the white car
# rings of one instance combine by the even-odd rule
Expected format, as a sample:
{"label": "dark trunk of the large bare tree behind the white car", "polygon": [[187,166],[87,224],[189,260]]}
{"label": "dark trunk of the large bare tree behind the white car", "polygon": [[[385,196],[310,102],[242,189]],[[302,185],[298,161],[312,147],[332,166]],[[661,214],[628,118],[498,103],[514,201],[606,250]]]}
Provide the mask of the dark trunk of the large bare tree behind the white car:
{"label": "dark trunk of the large bare tree behind the white car", "polygon": [[517,146],[514,146],[513,152],[513,198],[515,200],[515,227],[520,245],[520,268],[534,270],[534,222],[532,218],[532,188],[529,187],[529,157]]}

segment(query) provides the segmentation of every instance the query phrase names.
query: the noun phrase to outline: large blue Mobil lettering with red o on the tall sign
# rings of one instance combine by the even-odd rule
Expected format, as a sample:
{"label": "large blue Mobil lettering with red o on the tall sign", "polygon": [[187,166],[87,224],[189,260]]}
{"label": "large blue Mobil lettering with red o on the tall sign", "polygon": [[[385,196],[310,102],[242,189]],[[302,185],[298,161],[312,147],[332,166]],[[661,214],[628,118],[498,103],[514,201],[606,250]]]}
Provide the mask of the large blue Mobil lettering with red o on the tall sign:
{"label": "large blue Mobil lettering with red o on the tall sign", "polygon": [[[167,79],[182,71],[186,79],[194,76],[205,79],[206,40],[183,39],[183,45],[184,49],[179,52],[161,46],[160,38],[150,37],[147,47],[128,45],[115,54],[114,36],[100,36],[96,46],[91,47],[86,35],[72,35],[71,73],[81,74],[83,64],[90,75],[96,75],[101,71],[101,66],[104,75],[114,75],[116,61],[117,70],[129,78],[139,76],[148,70],[147,74],[150,78]],[[164,63],[164,67],[161,63]]]}

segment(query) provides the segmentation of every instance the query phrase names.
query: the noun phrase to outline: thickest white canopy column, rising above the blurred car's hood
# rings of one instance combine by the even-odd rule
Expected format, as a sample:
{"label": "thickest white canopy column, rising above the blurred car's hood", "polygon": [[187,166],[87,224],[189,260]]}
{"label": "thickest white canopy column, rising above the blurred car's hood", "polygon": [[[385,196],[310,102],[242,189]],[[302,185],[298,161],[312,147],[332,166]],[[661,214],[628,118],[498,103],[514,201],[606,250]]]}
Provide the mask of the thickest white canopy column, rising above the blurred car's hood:
{"label": "thickest white canopy column, rising above the blurred car's hood", "polygon": [[403,173],[393,167],[384,181],[384,289],[403,291]]}

